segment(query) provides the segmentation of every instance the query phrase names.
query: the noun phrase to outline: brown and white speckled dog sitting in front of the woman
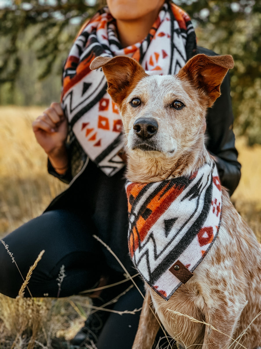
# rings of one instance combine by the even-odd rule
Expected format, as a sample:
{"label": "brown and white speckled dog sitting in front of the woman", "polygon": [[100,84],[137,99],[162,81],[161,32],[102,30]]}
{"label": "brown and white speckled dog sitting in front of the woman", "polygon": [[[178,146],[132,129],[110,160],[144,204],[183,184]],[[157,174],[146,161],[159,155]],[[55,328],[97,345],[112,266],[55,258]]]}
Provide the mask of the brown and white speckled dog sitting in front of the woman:
{"label": "brown and white speckled dog sitting in front of the woman", "polygon": [[[90,67],[102,67],[108,92],[121,113],[127,179],[150,183],[190,176],[205,163],[213,163],[204,145],[205,114],[220,96],[220,84],[233,66],[230,55],[199,54],[176,76],[149,76],[131,58],[94,59]],[[149,308],[151,302],[178,347],[260,346],[261,316],[254,318],[261,311],[261,249],[225,188],[219,233],[193,274],[167,302],[145,283],[146,296],[133,348],[149,349],[155,340],[159,324]]]}

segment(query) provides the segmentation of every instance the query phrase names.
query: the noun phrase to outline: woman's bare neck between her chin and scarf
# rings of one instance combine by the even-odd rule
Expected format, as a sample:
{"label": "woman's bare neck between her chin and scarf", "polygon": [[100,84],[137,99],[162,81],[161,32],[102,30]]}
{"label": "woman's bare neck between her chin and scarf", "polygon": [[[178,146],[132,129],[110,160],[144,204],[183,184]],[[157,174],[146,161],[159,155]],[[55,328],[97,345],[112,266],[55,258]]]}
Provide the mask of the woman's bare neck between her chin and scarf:
{"label": "woman's bare neck between her chin and scarf", "polygon": [[145,17],[136,18],[135,20],[116,19],[118,36],[122,47],[127,47],[142,41],[156,21],[160,8],[156,8]]}

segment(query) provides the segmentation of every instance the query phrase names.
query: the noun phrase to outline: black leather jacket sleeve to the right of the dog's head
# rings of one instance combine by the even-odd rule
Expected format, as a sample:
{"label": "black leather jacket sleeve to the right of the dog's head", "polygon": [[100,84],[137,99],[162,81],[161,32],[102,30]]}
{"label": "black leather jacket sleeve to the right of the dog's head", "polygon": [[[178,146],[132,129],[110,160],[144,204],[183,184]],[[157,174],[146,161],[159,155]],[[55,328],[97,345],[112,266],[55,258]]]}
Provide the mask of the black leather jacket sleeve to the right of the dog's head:
{"label": "black leather jacket sleeve to the right of the dog's head", "polygon": [[220,91],[221,96],[207,111],[206,147],[216,158],[221,184],[232,195],[239,183],[241,165],[237,161],[235,148],[229,73],[224,78]]}

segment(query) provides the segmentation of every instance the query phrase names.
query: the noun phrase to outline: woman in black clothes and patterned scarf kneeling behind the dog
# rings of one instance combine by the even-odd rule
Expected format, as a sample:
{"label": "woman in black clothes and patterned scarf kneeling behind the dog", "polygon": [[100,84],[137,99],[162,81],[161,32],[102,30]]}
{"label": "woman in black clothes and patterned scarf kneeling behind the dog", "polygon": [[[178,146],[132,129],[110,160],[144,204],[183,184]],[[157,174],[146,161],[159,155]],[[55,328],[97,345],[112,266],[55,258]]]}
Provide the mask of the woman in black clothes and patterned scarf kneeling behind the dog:
{"label": "woman in black clothes and patterned scarf kneeling behind the dog", "polygon": [[[63,72],[61,105],[53,103],[33,122],[35,137],[48,155],[49,173],[70,183],[44,214],[5,238],[24,276],[38,253],[45,249],[30,280],[30,291],[35,297],[57,296],[56,279],[62,266],[66,277],[60,297],[93,288],[101,280],[113,283],[124,279],[119,263],[93,234],[111,247],[130,274],[135,274],[127,249],[120,116],[117,105],[106,94],[103,73],[99,69],[91,72],[90,62],[98,55],[128,55],[138,60],[148,74],[176,74],[193,55],[214,55],[196,46],[190,18],[172,2],[107,3],[109,9],[102,9],[84,25],[71,49]],[[222,184],[232,193],[240,179],[240,164],[232,131],[228,76],[221,92],[206,117],[207,148],[216,156]],[[29,253],[25,255],[23,250]],[[3,246],[0,263],[0,292],[15,297],[21,282]],[[141,281],[137,282],[142,289]],[[102,292],[95,304],[103,304],[122,290],[123,287],[112,287]],[[132,288],[119,298],[114,309],[139,309],[142,301]],[[104,317],[105,312],[100,313]],[[97,328],[95,333],[89,333],[95,321],[100,325],[98,317],[87,320],[74,344],[97,340]],[[97,348],[131,348],[138,321],[139,312],[120,318],[111,314],[98,336]]]}

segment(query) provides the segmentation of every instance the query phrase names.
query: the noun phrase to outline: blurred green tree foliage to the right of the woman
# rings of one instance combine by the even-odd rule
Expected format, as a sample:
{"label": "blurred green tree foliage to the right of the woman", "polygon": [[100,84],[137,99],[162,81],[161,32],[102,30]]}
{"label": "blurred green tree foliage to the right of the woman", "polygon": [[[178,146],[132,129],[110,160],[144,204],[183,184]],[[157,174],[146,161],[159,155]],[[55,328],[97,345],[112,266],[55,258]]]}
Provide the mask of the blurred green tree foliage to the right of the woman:
{"label": "blurred green tree foliage to the right of the woman", "polygon": [[231,96],[237,134],[261,144],[261,1],[175,1],[192,15],[198,44],[231,54]]}

